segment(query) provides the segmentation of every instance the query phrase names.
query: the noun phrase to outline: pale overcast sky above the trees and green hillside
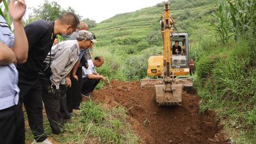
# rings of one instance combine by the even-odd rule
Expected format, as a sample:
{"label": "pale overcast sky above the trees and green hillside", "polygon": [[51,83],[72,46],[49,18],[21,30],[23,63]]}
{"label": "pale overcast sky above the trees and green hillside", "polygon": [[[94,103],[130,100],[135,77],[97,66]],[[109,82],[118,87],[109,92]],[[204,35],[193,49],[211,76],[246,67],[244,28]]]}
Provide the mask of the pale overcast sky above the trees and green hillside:
{"label": "pale overcast sky above the trees and green hillside", "polygon": [[[52,0],[49,0],[52,1]],[[118,13],[127,13],[140,10],[148,6],[154,6],[164,0],[55,0],[61,8],[71,6],[83,18],[90,18],[101,22]],[[28,8],[36,7],[44,3],[44,0],[26,0]],[[28,10],[27,13],[31,12]],[[28,15],[28,14],[26,14]]]}

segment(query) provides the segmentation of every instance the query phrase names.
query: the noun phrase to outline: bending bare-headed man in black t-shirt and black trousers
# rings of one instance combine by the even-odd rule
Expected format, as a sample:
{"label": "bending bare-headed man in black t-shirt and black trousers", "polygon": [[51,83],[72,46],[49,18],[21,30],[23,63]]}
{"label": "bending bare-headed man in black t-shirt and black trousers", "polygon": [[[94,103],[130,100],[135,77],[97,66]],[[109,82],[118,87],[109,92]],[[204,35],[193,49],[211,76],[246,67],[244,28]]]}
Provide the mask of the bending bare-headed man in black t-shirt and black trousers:
{"label": "bending bare-headed man in black t-shirt and black trousers", "polygon": [[28,122],[34,134],[34,143],[51,143],[44,133],[42,115],[42,85],[38,72],[42,69],[42,62],[50,52],[56,34],[71,34],[76,31],[79,18],[74,13],[65,13],[54,22],[38,20],[26,25],[29,52],[28,61],[18,64],[20,101],[24,102],[28,115]]}

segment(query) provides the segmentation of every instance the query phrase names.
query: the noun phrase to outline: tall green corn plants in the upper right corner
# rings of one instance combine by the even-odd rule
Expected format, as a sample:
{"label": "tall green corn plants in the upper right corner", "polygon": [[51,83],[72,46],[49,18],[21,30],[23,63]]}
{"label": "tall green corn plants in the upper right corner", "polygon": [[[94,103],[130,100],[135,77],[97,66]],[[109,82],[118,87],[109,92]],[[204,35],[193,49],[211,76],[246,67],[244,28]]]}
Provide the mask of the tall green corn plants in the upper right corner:
{"label": "tall green corn plants in the upper right corner", "polygon": [[[218,20],[216,36],[222,43],[234,36],[238,38],[255,37],[256,35],[256,1],[255,0],[234,0],[220,1],[218,11],[214,15]],[[249,33],[252,34],[249,36]]]}

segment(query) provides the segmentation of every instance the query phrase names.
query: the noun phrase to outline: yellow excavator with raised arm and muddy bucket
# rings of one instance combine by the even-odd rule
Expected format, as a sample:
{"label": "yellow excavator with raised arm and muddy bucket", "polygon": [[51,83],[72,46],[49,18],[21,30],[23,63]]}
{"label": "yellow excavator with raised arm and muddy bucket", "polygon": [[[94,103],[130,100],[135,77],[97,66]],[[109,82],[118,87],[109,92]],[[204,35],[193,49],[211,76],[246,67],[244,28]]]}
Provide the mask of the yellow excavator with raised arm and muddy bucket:
{"label": "yellow excavator with raised arm and muddy bucket", "polygon": [[[180,105],[184,87],[193,87],[192,78],[188,76],[188,34],[174,33],[172,25],[169,3],[164,3],[164,14],[161,18],[164,52],[163,55],[151,56],[148,59],[148,76],[157,78],[141,80],[141,87],[156,88],[156,102],[159,105]],[[182,45],[181,52],[172,54],[173,41]]]}

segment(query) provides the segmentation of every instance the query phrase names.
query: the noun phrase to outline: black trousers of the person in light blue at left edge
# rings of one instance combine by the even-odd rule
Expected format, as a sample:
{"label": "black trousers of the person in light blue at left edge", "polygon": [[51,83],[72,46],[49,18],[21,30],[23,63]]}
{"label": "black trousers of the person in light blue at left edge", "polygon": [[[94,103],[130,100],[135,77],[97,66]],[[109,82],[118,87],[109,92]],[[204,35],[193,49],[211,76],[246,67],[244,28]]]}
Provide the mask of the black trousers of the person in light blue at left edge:
{"label": "black trousers of the person in light blue at left edge", "polygon": [[22,104],[0,110],[0,143],[25,143],[25,127]]}

